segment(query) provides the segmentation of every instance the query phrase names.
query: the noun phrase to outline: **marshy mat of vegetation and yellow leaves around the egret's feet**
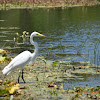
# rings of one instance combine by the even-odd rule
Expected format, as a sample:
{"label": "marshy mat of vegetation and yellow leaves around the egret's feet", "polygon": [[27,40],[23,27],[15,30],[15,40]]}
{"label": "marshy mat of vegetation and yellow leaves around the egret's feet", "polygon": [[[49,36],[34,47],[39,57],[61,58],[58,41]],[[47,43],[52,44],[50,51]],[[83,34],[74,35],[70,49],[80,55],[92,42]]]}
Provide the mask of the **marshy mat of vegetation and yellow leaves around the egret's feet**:
{"label": "marshy mat of vegetation and yellow leaves around the egret's feet", "polygon": [[[81,66],[81,67],[80,67]],[[88,67],[87,67],[88,66]],[[1,79],[4,65],[1,66]],[[90,87],[74,86],[64,88],[65,80],[84,80],[91,75],[100,74],[95,65],[90,62],[48,61],[43,56],[38,56],[34,66],[24,67],[26,83],[16,83],[20,69],[16,69],[6,76],[4,84],[0,81],[0,99],[7,100],[92,100],[100,98],[100,86]],[[45,72],[45,73],[44,73]],[[77,74],[79,74],[77,76]],[[80,77],[84,74],[83,77]],[[88,76],[90,74],[90,76]]]}

